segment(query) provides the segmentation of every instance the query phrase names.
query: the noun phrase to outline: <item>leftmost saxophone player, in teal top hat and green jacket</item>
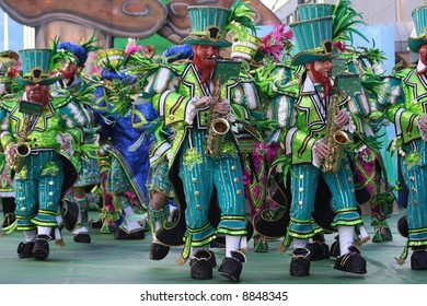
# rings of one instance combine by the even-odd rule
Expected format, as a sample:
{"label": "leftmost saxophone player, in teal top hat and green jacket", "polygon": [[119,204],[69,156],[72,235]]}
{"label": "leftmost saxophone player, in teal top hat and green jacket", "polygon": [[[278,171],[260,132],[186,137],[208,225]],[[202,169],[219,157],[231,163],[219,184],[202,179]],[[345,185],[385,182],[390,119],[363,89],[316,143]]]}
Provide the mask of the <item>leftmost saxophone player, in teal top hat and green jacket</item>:
{"label": "leftmost saxophone player, in teal top hat and green jacket", "polygon": [[[58,227],[59,201],[76,180],[71,155],[73,143],[79,145],[82,137],[82,116],[77,105],[54,101],[50,95],[49,85],[58,81],[48,70],[50,49],[24,49],[19,54],[23,64],[16,81],[24,93],[2,102],[0,141],[9,163],[15,164],[16,146],[22,146],[19,143],[27,148],[13,176],[15,228],[25,238],[18,246],[18,256],[45,260],[50,233]],[[57,235],[56,239],[61,243]]]}

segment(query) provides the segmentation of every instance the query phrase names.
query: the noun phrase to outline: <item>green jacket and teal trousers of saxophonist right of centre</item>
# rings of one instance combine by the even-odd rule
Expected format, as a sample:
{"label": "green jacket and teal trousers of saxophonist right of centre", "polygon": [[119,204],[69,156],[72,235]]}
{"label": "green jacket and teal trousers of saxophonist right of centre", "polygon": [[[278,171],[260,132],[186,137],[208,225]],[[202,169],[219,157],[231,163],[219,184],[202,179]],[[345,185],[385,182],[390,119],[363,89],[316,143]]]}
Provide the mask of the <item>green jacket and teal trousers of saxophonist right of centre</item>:
{"label": "green jacket and teal trousers of saxophonist right of centre", "polygon": [[[290,244],[291,238],[308,239],[323,231],[319,222],[313,220],[320,177],[324,179],[332,193],[331,204],[336,212],[330,225],[336,227],[362,223],[357,212],[353,172],[348,158],[343,158],[336,174],[328,174],[322,172],[321,161],[314,155],[315,142],[325,137],[327,106],[332,96],[322,99],[323,93],[315,89],[311,79],[307,75],[302,80],[300,89],[296,83],[293,91],[290,87],[289,95],[279,95],[276,98],[277,122],[285,132],[284,146],[292,172],[290,175],[292,202],[286,245]],[[338,104],[353,115],[370,114],[368,99],[360,93],[348,102],[343,97]],[[350,123],[343,129],[347,133],[353,132]]]}

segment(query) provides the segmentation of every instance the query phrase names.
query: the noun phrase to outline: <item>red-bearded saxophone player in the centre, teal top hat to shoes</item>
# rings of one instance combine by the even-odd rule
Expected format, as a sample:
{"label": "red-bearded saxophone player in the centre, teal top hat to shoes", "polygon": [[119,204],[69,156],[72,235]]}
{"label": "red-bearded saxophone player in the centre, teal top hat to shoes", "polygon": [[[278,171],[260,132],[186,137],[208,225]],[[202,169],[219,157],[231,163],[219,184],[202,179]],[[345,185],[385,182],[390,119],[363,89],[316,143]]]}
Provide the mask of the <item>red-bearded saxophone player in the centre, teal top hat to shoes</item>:
{"label": "red-bearded saxophone player in the centre, teal top hat to shoes", "polygon": [[[158,72],[158,95],[153,101],[158,102],[154,107],[165,126],[174,132],[168,156],[169,177],[178,198],[181,217],[185,217],[182,259],[189,259],[193,279],[211,279],[216,259],[209,244],[224,236],[226,258],[218,270],[222,276],[236,282],[245,262],[241,250],[246,248],[246,220],[242,167],[233,128],[227,132],[218,155],[205,152],[210,111],[219,114],[231,126],[232,109],[241,107],[232,95],[239,81],[227,80],[218,98],[214,93],[219,93],[216,90],[219,84],[211,79],[214,59],[220,58],[221,48],[231,46],[224,39],[229,13],[224,8],[188,8],[192,32],[183,43],[193,46],[193,60]],[[207,15],[207,20],[204,21],[203,15]],[[220,208],[217,224],[209,217],[211,203]]]}

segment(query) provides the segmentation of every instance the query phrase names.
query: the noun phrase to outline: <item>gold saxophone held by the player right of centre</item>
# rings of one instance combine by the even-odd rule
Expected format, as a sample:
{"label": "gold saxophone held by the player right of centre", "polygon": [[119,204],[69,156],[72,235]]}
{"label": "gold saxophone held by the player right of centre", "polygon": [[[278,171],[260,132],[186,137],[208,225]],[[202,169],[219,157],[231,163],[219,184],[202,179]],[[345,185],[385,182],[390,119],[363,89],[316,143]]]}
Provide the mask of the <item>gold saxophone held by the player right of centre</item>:
{"label": "gold saxophone held by the player right of centre", "polygon": [[338,114],[339,95],[333,94],[327,111],[327,122],[325,128],[325,142],[328,154],[323,161],[322,170],[328,174],[336,174],[339,169],[341,160],[344,156],[344,146],[349,142],[348,134],[341,130],[335,123],[335,116]]}

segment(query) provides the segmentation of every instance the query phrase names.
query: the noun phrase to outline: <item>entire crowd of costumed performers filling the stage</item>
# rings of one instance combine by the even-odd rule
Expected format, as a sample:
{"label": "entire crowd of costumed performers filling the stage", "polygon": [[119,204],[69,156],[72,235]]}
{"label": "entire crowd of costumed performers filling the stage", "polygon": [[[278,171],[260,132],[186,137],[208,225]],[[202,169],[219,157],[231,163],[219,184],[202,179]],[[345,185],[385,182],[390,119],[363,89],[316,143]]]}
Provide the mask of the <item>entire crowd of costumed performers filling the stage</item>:
{"label": "entire crowd of costumed performers filling the stage", "polygon": [[[388,149],[408,192],[397,263],[412,250],[411,268],[426,270],[427,7],[414,11],[419,36],[408,39],[418,61],[384,75],[381,50],[348,44],[366,38],[350,4],[298,5],[299,22],[264,37],[245,2],[189,7],[189,36],[163,54],[135,39],[105,49],[95,35],[3,51],[2,227],[23,233],[19,258],[46,260],[62,231],[86,244],[91,231],[150,232],[150,259],[180,247],[198,280],[217,267],[239,281],[245,252],[268,251],[269,238],[282,238],[281,252],[292,246],[292,276],[330,257],[365,274],[358,247],[393,239]],[[212,245],[224,249],[219,264]]]}

